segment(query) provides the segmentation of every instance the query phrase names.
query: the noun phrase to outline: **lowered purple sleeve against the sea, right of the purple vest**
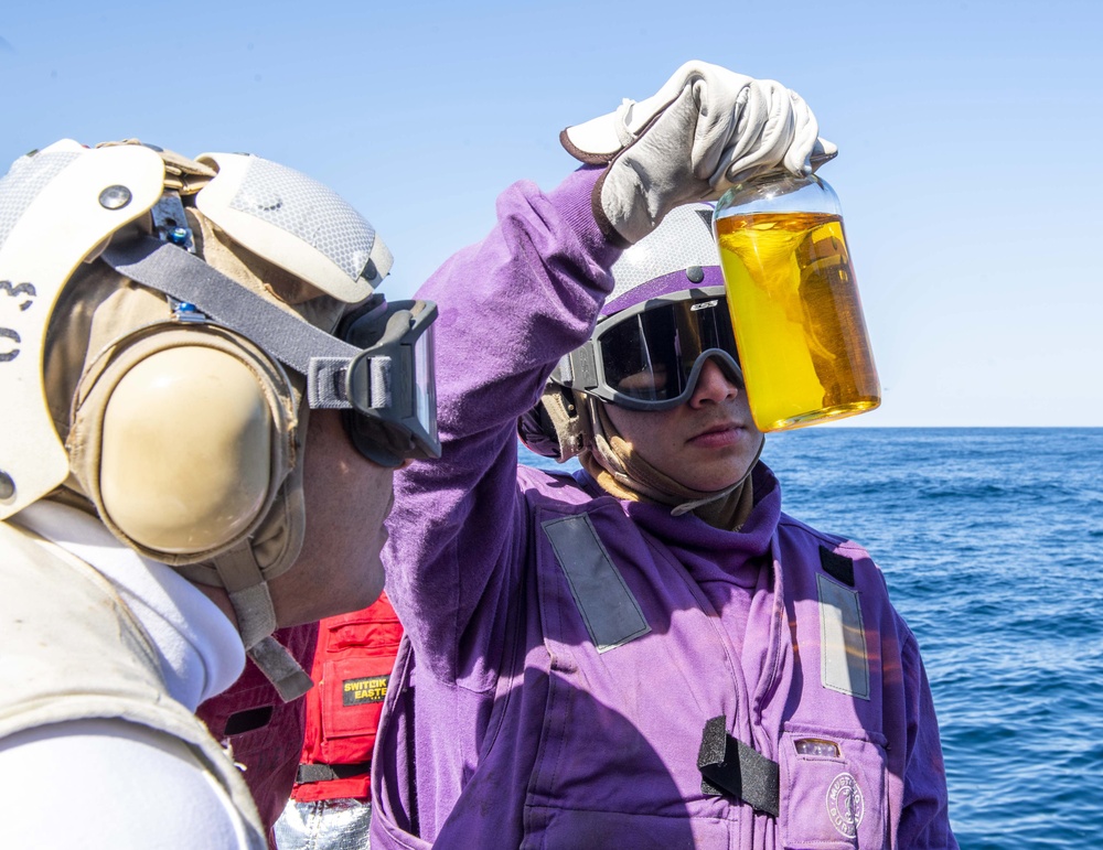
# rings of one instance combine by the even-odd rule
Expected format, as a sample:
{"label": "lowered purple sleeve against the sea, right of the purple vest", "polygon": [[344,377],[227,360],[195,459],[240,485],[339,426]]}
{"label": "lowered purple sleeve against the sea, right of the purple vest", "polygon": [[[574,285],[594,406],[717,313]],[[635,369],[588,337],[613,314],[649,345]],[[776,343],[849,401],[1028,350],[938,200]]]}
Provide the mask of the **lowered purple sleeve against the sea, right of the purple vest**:
{"label": "lowered purple sleeve against the sea, right of the purple vest", "polygon": [[908,752],[897,846],[915,850],[956,850],[957,839],[950,828],[939,721],[919,646],[910,634],[903,645],[902,663],[908,678]]}

